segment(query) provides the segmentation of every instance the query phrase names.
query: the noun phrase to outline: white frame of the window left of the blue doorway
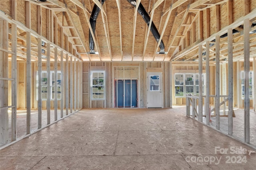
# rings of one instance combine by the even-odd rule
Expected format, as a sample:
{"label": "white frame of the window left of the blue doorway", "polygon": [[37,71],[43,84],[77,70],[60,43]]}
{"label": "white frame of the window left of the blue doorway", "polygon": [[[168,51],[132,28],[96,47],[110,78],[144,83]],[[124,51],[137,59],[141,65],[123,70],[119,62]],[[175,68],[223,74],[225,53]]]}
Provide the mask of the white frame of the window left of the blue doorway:
{"label": "white frame of the window left of the blue doorway", "polygon": [[[102,92],[100,92],[100,93],[103,93],[103,98],[94,98],[94,93],[95,92],[93,92],[93,87],[94,86],[98,86],[98,84],[93,84],[93,79],[95,79],[95,78],[93,78],[93,73],[103,73],[104,75],[103,75],[103,84],[100,84],[100,87],[101,87],[101,89],[100,90],[102,90],[102,86],[103,86],[103,91]],[[105,100],[106,99],[106,72],[104,71],[104,70],[92,70],[92,71],[90,71],[90,98],[91,98],[91,100]],[[98,77],[98,79],[99,79],[99,77]],[[98,95],[98,97],[99,97],[100,95]]]}

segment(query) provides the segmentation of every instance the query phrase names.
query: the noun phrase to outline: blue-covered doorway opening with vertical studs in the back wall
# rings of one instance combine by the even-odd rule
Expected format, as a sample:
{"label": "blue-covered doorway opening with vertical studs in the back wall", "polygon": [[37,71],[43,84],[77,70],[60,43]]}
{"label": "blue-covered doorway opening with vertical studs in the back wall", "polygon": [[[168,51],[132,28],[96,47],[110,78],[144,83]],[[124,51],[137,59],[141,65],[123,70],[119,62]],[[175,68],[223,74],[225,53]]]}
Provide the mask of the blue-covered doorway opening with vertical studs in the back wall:
{"label": "blue-covered doorway opening with vertical studs in the back wall", "polygon": [[115,107],[138,107],[138,80],[114,80]]}

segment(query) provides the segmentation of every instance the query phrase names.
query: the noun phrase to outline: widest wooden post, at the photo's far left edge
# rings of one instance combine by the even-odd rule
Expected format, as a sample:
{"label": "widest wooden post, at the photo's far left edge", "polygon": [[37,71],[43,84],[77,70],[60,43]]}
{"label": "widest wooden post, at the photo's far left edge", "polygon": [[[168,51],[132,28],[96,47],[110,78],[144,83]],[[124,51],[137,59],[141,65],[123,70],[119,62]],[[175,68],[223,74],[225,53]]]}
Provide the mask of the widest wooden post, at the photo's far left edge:
{"label": "widest wooden post, at the photo's far left edge", "polygon": [[[8,21],[1,20],[1,49],[8,50]],[[8,78],[8,53],[1,51],[0,57],[0,78]],[[0,145],[8,142],[8,81],[0,80]]]}

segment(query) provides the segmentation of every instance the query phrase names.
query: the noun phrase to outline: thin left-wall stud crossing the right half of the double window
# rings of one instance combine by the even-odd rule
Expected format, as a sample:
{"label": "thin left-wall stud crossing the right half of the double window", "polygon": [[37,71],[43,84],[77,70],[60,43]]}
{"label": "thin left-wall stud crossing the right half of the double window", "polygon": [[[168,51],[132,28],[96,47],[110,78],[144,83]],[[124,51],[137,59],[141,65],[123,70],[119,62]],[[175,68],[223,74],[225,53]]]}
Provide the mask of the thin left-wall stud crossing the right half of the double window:
{"label": "thin left-wall stud crossing the right half of the double window", "polygon": [[58,119],[58,99],[57,99],[57,90],[58,90],[58,49],[54,48],[54,121]]}

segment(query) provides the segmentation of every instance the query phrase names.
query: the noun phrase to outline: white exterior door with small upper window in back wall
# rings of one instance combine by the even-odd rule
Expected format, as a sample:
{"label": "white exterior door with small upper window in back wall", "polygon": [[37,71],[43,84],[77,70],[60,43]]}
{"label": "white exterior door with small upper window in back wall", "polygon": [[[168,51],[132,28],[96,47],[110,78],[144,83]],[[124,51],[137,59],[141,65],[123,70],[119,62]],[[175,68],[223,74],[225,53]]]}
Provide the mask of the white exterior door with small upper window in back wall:
{"label": "white exterior door with small upper window in back wall", "polygon": [[162,107],[162,72],[148,72],[147,107]]}

